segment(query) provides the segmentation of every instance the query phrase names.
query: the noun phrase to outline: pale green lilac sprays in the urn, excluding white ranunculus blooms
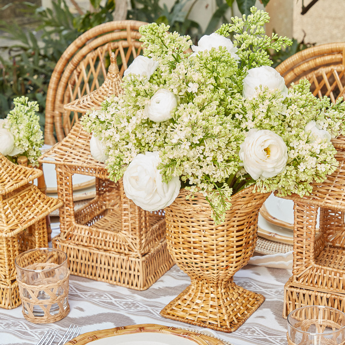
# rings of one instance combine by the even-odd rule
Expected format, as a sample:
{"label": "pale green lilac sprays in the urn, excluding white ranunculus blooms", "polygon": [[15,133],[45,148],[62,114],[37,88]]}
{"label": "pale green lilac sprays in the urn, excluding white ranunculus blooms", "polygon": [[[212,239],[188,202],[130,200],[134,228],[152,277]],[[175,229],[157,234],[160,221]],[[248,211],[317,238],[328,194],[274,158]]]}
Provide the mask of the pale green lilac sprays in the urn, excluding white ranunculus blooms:
{"label": "pale green lilac sprays in the urn, excluding white ranunculus blooms", "polygon": [[[122,178],[138,154],[158,151],[162,180],[178,176],[191,199],[202,193],[219,224],[231,207],[231,196],[249,185],[263,193],[277,190],[282,196],[303,196],[311,192],[312,181],[324,181],[336,169],[332,143],[314,140],[305,126],[315,121],[332,137],[345,134],[342,99],[333,104],[327,97],[316,98],[307,80],[292,85],[285,98],[278,89],[267,87],[255,97],[242,96],[248,69],[271,65],[266,49],[279,50],[292,43],[286,37],[266,36],[263,26],[268,14],[255,7],[251,11],[217,30],[225,37],[234,34],[238,61],[225,47],[191,54],[189,36],[169,33],[165,24],[140,27],[144,56],[158,61],[158,68],[148,80],[124,77],[120,95],[81,119],[84,128],[106,145],[111,180]],[[174,93],[177,106],[169,120],[152,122],[144,108],[162,88]],[[270,130],[285,142],[287,163],[278,175],[253,180],[243,168],[240,145],[252,128]]]}

